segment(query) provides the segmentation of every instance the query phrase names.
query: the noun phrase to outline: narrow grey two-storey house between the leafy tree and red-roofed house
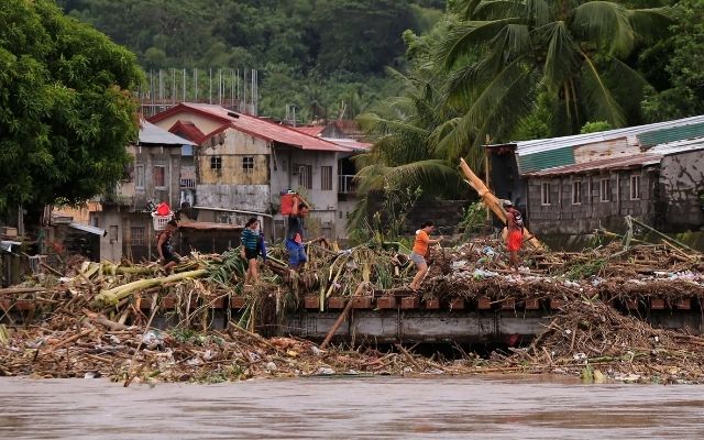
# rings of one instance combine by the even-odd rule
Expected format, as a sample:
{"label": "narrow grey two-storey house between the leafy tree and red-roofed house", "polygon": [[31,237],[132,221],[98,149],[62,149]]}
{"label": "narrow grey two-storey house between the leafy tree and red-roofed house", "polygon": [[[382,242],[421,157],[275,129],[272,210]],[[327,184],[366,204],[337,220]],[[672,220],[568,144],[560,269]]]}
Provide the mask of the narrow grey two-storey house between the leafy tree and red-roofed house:
{"label": "narrow grey two-storey house between the leafy tree and red-roofed house", "polygon": [[167,202],[176,210],[190,200],[193,147],[193,142],[142,122],[139,141],[128,146],[133,162],[124,178],[101,197],[101,210],[90,212],[91,226],[107,231],[100,242],[100,260],[154,257],[155,231],[147,206]]}

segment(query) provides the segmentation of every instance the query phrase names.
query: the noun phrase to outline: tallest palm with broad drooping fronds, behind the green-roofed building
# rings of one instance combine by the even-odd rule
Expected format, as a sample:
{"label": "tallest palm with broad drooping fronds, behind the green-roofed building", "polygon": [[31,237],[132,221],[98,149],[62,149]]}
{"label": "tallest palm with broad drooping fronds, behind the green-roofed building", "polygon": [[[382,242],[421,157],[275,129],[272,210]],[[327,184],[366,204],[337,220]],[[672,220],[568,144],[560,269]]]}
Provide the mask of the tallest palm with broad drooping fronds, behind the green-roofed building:
{"label": "tallest palm with broad drooping fronds, behind the green-roofed building", "polygon": [[464,0],[464,21],[441,44],[451,70],[448,102],[462,109],[444,150],[508,135],[536,108],[553,103],[554,134],[579,132],[587,121],[626,123],[615,87],[645,85],[623,62],[638,38],[664,29],[667,11],[631,10],[613,1]]}

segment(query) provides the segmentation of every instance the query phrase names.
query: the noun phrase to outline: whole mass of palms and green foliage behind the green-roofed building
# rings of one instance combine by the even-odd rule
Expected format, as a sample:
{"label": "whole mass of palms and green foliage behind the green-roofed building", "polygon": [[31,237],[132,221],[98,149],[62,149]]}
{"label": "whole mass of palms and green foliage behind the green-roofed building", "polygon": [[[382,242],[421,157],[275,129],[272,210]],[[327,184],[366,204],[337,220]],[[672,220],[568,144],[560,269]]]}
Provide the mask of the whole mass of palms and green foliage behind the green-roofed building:
{"label": "whole mass of palms and green foliage behind the green-roofed building", "polygon": [[704,112],[700,0],[450,0],[424,35],[406,33],[398,96],[358,120],[364,226],[374,194],[415,185],[457,195],[459,157],[487,142],[594,132]]}

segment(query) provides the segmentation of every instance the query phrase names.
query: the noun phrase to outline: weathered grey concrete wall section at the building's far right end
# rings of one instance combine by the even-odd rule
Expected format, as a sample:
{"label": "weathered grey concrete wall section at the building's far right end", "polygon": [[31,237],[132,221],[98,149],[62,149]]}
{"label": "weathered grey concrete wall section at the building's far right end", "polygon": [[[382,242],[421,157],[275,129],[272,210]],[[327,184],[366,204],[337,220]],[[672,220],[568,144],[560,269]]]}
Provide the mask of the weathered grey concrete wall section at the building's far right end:
{"label": "weathered grey concrete wall section at the building's far right end", "polygon": [[704,151],[673,154],[661,163],[660,188],[668,231],[698,229],[704,224]]}

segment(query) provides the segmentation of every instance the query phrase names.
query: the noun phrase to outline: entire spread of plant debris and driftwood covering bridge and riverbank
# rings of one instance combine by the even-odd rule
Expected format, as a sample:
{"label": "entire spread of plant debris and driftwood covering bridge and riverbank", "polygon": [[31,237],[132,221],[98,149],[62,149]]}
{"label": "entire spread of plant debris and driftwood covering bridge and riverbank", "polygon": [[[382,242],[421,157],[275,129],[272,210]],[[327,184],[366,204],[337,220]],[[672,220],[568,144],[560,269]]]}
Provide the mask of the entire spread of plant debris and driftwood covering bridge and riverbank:
{"label": "entire spread of plant debris and driftwood covering bridge and riverbank", "polygon": [[[701,307],[704,257],[668,241],[613,242],[584,252],[526,250],[516,272],[499,238],[477,238],[433,249],[418,294],[408,288],[415,268],[398,246],[339,251],[317,240],[301,273],[287,270],[284,251],[270,251],[254,286],[244,285],[246,264],[232,250],[194,253],[168,275],[155,263],[70,258],[50,274],[0,289],[0,375],[103,376],[125,386],[331,374],[560,373],[596,382],[704,382],[704,338],[653,327],[619,308],[650,298]],[[427,356],[403,344],[319,345],[276,334],[277,322],[305,296],[361,293],[493,304],[559,299],[562,306],[528,346],[488,355],[459,344],[452,356]],[[215,328],[213,308],[234,296],[245,298],[242,311],[223,308],[226,324]],[[167,329],[157,329],[157,320]]]}

